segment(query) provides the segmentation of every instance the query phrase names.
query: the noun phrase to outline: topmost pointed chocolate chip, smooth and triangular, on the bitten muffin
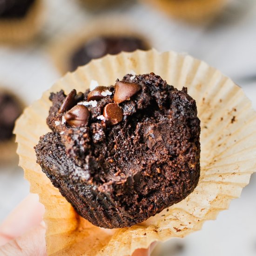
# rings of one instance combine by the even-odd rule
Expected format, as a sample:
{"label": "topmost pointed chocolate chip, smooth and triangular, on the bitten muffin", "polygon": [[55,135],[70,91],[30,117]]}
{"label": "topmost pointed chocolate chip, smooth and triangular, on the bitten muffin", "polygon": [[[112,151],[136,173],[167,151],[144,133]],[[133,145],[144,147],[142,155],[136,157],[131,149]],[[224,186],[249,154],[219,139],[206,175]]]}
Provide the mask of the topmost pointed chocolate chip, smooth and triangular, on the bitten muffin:
{"label": "topmost pointed chocolate chip, smooth and triangular, on the bitten muffin", "polygon": [[115,83],[114,102],[119,104],[127,101],[140,90],[141,86],[139,84],[117,81]]}

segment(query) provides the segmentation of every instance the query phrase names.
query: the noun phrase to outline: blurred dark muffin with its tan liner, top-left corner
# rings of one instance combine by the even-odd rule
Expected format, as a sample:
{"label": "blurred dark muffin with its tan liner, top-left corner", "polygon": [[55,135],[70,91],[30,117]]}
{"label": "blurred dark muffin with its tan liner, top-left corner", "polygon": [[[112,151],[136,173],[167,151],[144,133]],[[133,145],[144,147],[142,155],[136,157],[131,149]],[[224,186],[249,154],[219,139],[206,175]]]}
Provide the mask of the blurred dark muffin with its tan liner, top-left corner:
{"label": "blurred dark muffin with its tan liner, top-left corner", "polygon": [[31,40],[42,23],[42,0],[0,1],[0,42]]}

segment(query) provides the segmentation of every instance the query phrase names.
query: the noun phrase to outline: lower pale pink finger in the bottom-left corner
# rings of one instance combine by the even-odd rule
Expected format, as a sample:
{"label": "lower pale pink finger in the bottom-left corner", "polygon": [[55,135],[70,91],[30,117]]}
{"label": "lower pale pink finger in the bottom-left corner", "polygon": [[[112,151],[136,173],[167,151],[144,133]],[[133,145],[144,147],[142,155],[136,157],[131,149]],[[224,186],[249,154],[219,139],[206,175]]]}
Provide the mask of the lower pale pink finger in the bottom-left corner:
{"label": "lower pale pink finger in the bottom-left corner", "polygon": [[0,247],[1,256],[46,256],[45,227],[39,225]]}

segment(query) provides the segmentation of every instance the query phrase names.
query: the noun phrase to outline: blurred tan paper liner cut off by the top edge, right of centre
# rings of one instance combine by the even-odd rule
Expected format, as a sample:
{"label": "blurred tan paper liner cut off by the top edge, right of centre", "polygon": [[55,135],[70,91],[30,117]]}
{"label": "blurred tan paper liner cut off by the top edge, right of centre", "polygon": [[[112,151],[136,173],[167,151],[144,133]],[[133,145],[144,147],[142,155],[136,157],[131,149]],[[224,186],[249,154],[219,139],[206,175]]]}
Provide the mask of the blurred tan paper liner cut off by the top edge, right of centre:
{"label": "blurred tan paper liner cut off by the top edge, right of centre", "polygon": [[221,13],[229,0],[141,0],[168,15],[188,22],[205,22]]}

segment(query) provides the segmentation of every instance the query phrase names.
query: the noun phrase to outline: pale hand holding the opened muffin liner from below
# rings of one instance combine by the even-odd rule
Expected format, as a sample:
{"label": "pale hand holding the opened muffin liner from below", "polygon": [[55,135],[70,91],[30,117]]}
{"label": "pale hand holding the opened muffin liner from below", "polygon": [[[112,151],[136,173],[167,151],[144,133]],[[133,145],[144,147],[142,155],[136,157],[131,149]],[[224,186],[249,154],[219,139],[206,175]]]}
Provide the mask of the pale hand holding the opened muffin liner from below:
{"label": "pale hand holding the opened muffin liner from below", "polygon": [[[0,225],[0,255],[46,256],[44,211],[38,195],[29,194]],[[133,256],[149,256],[154,246]]]}

